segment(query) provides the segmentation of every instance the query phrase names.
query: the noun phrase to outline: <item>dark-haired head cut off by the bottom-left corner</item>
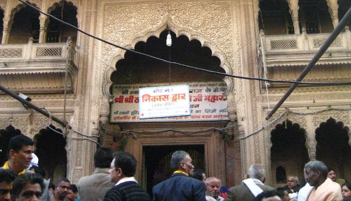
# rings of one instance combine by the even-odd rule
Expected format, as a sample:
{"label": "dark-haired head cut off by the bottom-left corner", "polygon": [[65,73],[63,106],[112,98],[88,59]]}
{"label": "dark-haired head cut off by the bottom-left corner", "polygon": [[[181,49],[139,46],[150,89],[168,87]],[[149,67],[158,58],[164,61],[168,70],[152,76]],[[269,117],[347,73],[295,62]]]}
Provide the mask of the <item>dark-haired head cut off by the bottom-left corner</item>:
{"label": "dark-haired head cut off by the bottom-left corner", "polygon": [[16,176],[10,169],[0,169],[0,201],[10,201],[12,183]]}

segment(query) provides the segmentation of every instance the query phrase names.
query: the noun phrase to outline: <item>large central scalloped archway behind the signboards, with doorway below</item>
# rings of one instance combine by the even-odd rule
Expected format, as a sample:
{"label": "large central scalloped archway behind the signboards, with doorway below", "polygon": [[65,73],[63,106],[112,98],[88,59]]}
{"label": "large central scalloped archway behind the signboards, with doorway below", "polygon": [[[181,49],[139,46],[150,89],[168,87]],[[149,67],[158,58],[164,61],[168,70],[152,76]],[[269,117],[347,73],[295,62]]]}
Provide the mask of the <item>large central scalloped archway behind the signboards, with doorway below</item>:
{"label": "large central scalloped archway behind the signboards, with doorway below", "polygon": [[[208,47],[203,47],[200,41],[189,41],[188,37],[184,35],[180,35],[177,37],[173,32],[169,31],[169,34],[172,38],[172,45],[168,47],[166,46],[167,34],[168,30],[164,30],[160,33],[158,38],[155,36],[151,36],[146,40],[146,42],[138,42],[136,43],[134,50],[164,60],[170,60],[172,62],[179,62],[185,65],[191,65],[198,68],[213,70],[217,72],[225,72],[224,69],[220,67],[221,60],[216,56],[212,56],[211,49]],[[166,62],[151,59],[146,56],[140,56],[138,54],[128,51],[125,53],[124,59],[120,59],[119,61],[117,61],[116,71],[114,71],[111,74],[110,78],[111,81],[114,83],[114,86],[127,86],[128,84],[139,84],[147,86],[158,83],[161,83],[163,85],[177,85],[179,83],[192,84],[203,82],[221,82],[221,84],[223,85],[218,85],[221,88],[221,95],[223,95],[227,88],[226,83],[223,81],[223,76],[214,75],[208,72],[196,71],[193,69],[188,69],[173,64],[169,65]],[[203,92],[205,92],[205,88],[203,89]],[[114,90],[114,87],[111,87],[111,92],[112,90]],[[190,89],[190,91],[192,91],[192,89]],[[195,93],[195,90],[190,93],[193,92]],[[133,95],[138,93],[137,89],[129,88],[128,92],[126,91],[126,93],[122,94],[124,94],[124,96],[129,97],[130,94]],[[119,104],[119,102],[114,102],[113,104]],[[225,111],[226,107],[227,106],[225,106],[224,108]],[[195,111],[196,109],[194,107],[194,113],[196,113]],[[111,111],[111,113],[118,112],[120,113],[121,111]],[[121,130],[142,129],[159,131],[166,128],[174,128],[188,131],[184,133],[173,133],[163,131],[157,133],[157,135],[149,135],[150,133],[145,132],[142,134],[136,134],[137,140],[134,140],[132,137],[128,137],[126,149],[131,151],[139,162],[139,169],[137,170],[136,177],[140,176],[140,183],[150,191],[153,183],[157,179],[155,179],[154,177],[155,172],[153,172],[153,174],[150,173],[154,170],[150,169],[150,172],[144,171],[145,168],[147,168],[147,165],[150,163],[159,164],[161,161],[165,163],[167,160],[164,159],[164,157],[167,154],[170,154],[171,152],[174,152],[177,149],[185,150],[184,147],[187,147],[188,150],[198,150],[198,153],[204,155],[204,157],[202,157],[203,161],[206,161],[202,162],[202,165],[199,165],[199,167],[209,171],[209,176],[216,176],[219,177],[221,180],[225,181],[226,170],[224,162],[224,145],[222,144],[223,141],[220,140],[219,131],[211,130],[209,132],[204,133],[204,131],[202,130],[204,129],[204,127],[223,128],[228,123],[228,121],[229,120],[226,119],[224,121],[221,120],[218,122],[206,122],[205,120],[198,120],[196,122],[192,122],[184,121],[183,119],[179,121],[160,120],[158,122],[151,123],[120,123],[116,121],[116,124],[121,128]],[[165,152],[164,149],[167,149],[169,147],[170,150]],[[148,154],[149,152],[155,153],[155,150],[161,154],[158,156],[158,158],[154,158],[152,154]],[[206,163],[206,165],[203,163]],[[163,177],[157,178],[165,179],[167,176],[169,175],[165,174],[163,175]]]}

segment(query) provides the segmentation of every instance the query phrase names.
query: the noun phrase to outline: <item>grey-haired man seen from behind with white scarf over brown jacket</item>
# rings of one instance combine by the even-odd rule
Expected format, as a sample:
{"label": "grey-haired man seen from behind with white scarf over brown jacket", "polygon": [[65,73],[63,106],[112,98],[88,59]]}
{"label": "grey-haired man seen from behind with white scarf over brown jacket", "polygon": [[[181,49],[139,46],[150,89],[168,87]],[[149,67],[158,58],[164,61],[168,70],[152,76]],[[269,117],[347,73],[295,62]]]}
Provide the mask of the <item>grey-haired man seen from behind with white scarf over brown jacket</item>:
{"label": "grey-haired man seen from behind with white scarf over brown jacket", "polygon": [[251,165],[247,179],[243,184],[229,188],[228,196],[224,200],[232,201],[255,201],[256,196],[263,191],[273,190],[271,186],[264,185],[266,181],[265,170],[262,165]]}

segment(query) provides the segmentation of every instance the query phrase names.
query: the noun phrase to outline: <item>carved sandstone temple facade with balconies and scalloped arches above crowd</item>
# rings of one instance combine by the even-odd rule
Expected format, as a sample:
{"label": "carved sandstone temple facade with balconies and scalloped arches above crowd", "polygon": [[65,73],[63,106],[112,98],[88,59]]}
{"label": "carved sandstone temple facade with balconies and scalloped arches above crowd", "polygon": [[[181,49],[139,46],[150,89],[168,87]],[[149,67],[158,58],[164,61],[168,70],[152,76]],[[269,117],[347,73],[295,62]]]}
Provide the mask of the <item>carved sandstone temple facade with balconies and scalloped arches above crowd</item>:
{"label": "carved sandstone temple facade with balconies and scalloped arches above crowd", "polygon": [[[46,177],[66,176],[72,183],[92,173],[99,146],[131,152],[138,161],[135,176],[148,191],[170,175],[175,150],[190,153],[195,168],[222,185],[240,184],[247,168],[260,163],[266,183],[281,186],[288,175],[302,178],[309,160],[324,161],[338,178],[351,180],[349,83],[299,84],[266,120],[291,83],[238,78],[295,80],[351,1],[28,3],[111,44],[17,0],[0,1],[0,85],[50,114],[0,92],[1,162],[9,139],[22,133],[35,140]],[[304,82],[351,81],[349,25]],[[183,98],[183,92],[158,89],[179,85],[189,87],[183,91],[188,114],[155,115]],[[161,93],[139,96],[145,87]],[[161,99],[169,102],[149,105],[152,118],[144,119],[142,104]]]}

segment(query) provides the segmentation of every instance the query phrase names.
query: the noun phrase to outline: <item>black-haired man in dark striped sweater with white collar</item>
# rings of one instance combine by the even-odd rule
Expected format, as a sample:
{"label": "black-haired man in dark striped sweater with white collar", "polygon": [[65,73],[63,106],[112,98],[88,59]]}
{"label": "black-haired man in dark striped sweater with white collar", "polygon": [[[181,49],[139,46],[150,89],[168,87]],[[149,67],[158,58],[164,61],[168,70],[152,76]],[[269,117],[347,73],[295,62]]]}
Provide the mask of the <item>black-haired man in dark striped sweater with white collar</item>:
{"label": "black-haired man in dark striped sweater with white collar", "polygon": [[104,201],[138,200],[150,201],[151,198],[134,178],[136,159],[131,153],[117,152],[111,162],[111,181],[116,185],[107,191]]}

